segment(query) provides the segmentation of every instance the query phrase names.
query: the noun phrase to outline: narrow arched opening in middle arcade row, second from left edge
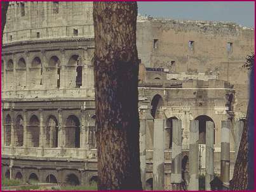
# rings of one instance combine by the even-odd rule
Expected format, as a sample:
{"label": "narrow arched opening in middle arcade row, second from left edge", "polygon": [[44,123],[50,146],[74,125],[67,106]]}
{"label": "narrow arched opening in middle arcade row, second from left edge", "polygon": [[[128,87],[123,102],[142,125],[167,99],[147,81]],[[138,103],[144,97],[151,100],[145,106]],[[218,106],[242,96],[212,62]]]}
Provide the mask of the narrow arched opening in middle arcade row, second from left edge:
{"label": "narrow arched opening in middle arcade row, second from left edge", "polygon": [[23,146],[23,133],[24,133],[24,124],[23,118],[21,115],[18,115],[16,119],[16,124],[14,127],[14,139],[15,146]]}

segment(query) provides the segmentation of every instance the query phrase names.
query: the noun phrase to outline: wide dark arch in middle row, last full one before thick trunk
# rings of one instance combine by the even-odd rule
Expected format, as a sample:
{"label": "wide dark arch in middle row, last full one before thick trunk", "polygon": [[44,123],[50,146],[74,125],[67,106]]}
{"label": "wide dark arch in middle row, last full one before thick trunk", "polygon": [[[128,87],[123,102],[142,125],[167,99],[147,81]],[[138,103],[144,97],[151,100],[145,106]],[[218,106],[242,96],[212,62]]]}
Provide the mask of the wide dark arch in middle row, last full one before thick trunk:
{"label": "wide dark arch in middle row, last full one before thick trunk", "polygon": [[66,121],[65,127],[65,147],[80,147],[80,122],[75,115],[70,115]]}

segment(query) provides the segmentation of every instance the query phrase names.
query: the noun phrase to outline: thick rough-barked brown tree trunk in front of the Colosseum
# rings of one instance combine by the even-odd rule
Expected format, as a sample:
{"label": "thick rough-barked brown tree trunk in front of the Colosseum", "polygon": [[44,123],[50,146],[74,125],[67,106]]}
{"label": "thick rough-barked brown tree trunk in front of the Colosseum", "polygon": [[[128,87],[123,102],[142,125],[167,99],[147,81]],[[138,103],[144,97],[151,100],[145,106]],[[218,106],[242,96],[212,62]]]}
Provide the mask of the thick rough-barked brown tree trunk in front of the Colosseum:
{"label": "thick rough-barked brown tree trunk in front of the Colosseum", "polygon": [[137,3],[93,2],[98,190],[142,189]]}

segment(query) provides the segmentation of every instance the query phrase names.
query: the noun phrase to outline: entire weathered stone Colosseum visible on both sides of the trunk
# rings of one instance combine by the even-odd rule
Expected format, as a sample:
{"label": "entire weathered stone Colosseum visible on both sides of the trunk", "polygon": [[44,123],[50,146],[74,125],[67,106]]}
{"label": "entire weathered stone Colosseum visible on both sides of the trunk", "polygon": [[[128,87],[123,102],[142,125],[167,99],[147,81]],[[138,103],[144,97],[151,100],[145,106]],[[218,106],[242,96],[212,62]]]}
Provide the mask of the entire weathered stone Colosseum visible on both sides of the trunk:
{"label": "entire weathered stone Colosseum visible on both sides of the trunk", "polygon": [[[3,177],[97,181],[92,13],[88,2],[10,3],[1,57]],[[185,181],[190,121],[199,122],[199,174],[206,171],[207,139],[213,139],[214,172],[220,174],[222,121],[231,122],[232,179],[248,106],[248,70],[242,66],[254,50],[254,29],[138,16],[137,48],[147,188],[156,141],[165,143],[165,187],[172,182],[175,119],[181,122]],[[207,121],[213,122],[213,138],[206,137]],[[163,134],[156,131],[161,127]]]}

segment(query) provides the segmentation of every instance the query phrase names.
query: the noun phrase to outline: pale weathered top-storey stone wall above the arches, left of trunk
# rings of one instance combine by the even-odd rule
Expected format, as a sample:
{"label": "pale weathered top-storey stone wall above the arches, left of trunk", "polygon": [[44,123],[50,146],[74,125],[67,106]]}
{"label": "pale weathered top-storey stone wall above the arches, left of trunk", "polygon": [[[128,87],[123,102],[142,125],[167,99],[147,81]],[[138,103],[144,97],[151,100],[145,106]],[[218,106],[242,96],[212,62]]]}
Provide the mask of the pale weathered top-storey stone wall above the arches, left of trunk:
{"label": "pale weathered top-storey stone wall above the arches, left of trunk", "polygon": [[52,37],[93,37],[92,11],[91,2],[11,2],[3,42]]}

